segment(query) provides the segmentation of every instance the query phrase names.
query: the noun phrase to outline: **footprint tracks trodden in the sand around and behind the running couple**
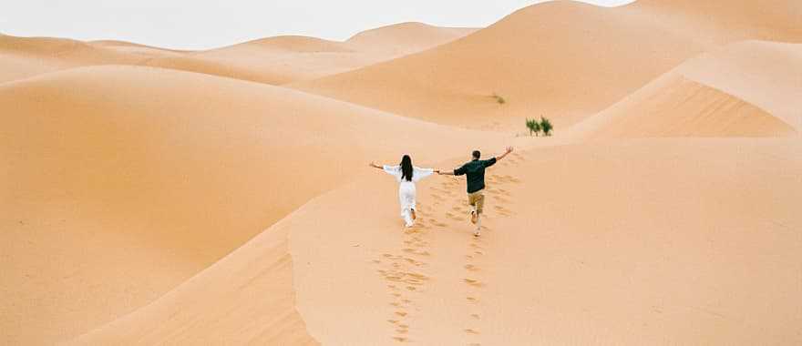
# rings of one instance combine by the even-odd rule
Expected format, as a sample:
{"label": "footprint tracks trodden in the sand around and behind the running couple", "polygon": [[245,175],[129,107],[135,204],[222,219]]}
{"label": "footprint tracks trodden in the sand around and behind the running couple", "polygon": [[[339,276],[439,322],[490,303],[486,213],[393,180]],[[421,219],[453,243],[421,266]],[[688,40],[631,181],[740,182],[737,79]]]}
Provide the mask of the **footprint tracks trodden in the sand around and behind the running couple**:
{"label": "footprint tracks trodden in the sand around and behind the running couple", "polygon": [[[512,153],[507,161],[509,165],[518,165],[522,160],[517,153]],[[508,166],[509,166],[508,165]],[[499,168],[503,169],[503,168]],[[503,169],[506,170],[506,169]],[[506,218],[513,215],[507,207],[509,205],[510,185],[518,184],[518,178],[509,175],[488,174],[488,188],[485,190],[487,202],[483,214],[483,222],[492,225],[493,219]],[[398,248],[382,253],[381,256],[373,260],[378,266],[376,273],[385,281],[388,294],[389,317],[387,323],[393,330],[392,340],[399,343],[415,342],[415,321],[416,317],[426,313],[427,307],[421,305],[423,297],[427,294],[427,283],[429,276],[426,274],[427,266],[430,261],[437,260],[432,253],[431,243],[437,239],[438,231],[465,230],[466,248],[462,268],[464,277],[461,282],[455,284],[466,285],[468,294],[462,300],[463,304],[468,304],[469,324],[461,330],[468,337],[476,337],[481,334],[481,316],[478,311],[481,301],[482,290],[488,285],[482,273],[484,256],[487,256],[486,242],[491,242],[487,237],[472,237],[468,230],[469,207],[468,198],[462,190],[465,182],[457,177],[443,178],[437,186],[430,188],[429,197],[431,204],[424,204],[418,201],[417,222],[409,229],[403,229],[403,237]],[[491,208],[487,208],[491,206]],[[452,228],[447,223],[447,219],[458,221],[462,226],[457,226],[454,222]],[[400,227],[400,225],[399,225]],[[492,235],[493,229],[483,225],[483,234]],[[479,345],[478,342],[470,342],[472,345]]]}

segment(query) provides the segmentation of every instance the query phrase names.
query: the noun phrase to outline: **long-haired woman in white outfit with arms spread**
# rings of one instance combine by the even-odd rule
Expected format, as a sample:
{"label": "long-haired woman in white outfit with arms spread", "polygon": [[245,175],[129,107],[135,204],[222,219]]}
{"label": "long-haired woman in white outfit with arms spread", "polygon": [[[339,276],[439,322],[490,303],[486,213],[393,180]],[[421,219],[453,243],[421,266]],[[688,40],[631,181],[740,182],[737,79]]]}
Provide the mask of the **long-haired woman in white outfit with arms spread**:
{"label": "long-haired woman in white outfit with arms spread", "polygon": [[406,227],[412,227],[415,222],[415,183],[427,178],[435,172],[432,168],[416,168],[412,166],[412,158],[405,155],[398,166],[379,166],[371,162],[370,167],[383,169],[387,174],[396,178],[398,185],[398,201],[401,203],[401,218]]}

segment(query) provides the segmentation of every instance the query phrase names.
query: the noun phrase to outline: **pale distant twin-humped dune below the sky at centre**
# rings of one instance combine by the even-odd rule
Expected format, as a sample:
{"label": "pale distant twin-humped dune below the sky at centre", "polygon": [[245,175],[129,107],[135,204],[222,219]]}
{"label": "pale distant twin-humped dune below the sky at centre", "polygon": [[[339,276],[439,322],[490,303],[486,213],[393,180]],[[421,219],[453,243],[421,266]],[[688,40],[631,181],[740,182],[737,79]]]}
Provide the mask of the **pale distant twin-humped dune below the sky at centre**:
{"label": "pale distant twin-humped dune below the sky at centre", "polygon": [[369,30],[345,42],[278,36],[154,59],[148,65],[282,85],[416,53],[466,36],[473,30],[406,23]]}

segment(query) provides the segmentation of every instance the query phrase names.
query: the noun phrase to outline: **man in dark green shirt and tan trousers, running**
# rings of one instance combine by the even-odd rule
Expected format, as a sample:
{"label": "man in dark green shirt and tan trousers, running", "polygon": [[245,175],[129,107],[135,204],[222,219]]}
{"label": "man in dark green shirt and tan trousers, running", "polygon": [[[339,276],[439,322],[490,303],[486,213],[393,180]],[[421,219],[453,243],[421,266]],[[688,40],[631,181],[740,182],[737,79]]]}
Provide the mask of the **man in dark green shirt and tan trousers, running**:
{"label": "man in dark green shirt and tan trousers, running", "polygon": [[485,189],[485,168],[495,165],[496,161],[506,157],[511,152],[512,147],[508,147],[504,154],[501,154],[495,158],[482,160],[479,159],[481,158],[482,154],[478,150],[474,150],[473,159],[465,165],[462,165],[462,167],[454,169],[454,171],[437,170],[437,174],[447,176],[467,176],[468,204],[471,207],[470,222],[473,222],[477,225],[477,229],[473,233],[473,235],[476,237],[479,236],[482,229],[481,214],[485,205],[485,194],[483,193]]}

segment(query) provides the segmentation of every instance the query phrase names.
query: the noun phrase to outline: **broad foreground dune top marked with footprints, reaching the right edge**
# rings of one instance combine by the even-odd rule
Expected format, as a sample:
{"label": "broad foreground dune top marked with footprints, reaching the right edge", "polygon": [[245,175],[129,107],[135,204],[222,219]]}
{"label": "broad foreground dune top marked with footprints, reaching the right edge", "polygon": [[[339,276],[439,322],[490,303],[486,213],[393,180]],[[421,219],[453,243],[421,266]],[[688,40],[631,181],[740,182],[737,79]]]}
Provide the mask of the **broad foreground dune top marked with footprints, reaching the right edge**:
{"label": "broad foreground dune top marked with footprints, reaching the right edge", "polygon": [[411,231],[386,177],[274,230],[290,233],[298,310],[323,344],[796,344],[800,144],[531,150],[491,169],[481,239],[452,178],[420,188]]}

